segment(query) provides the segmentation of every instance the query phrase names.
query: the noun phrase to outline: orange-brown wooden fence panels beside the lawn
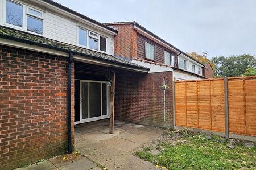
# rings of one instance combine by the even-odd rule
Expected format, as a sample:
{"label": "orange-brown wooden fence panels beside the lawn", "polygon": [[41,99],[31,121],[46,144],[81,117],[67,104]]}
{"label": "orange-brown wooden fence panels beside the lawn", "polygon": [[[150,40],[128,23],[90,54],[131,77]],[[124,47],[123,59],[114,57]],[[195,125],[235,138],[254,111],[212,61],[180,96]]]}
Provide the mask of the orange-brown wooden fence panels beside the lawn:
{"label": "orange-brown wooden fence panels beside the lawn", "polygon": [[[229,132],[256,136],[256,76],[228,78]],[[224,78],[175,82],[177,126],[225,132]]]}

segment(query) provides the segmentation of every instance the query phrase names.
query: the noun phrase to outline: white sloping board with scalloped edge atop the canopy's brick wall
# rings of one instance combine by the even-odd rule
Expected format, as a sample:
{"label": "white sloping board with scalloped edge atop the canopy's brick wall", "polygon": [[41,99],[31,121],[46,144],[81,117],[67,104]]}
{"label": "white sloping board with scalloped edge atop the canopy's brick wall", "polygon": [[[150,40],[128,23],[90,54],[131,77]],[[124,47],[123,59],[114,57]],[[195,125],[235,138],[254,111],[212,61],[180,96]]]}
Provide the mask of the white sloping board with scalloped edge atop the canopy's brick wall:
{"label": "white sloping board with scalloped edge atop the canopy's brick wall", "polygon": [[146,68],[150,68],[148,73],[157,73],[157,72],[168,72],[173,71],[171,67],[166,67],[164,65],[160,64],[154,64],[154,63],[147,63],[145,61],[138,61],[138,60],[132,60],[133,63],[141,65]]}

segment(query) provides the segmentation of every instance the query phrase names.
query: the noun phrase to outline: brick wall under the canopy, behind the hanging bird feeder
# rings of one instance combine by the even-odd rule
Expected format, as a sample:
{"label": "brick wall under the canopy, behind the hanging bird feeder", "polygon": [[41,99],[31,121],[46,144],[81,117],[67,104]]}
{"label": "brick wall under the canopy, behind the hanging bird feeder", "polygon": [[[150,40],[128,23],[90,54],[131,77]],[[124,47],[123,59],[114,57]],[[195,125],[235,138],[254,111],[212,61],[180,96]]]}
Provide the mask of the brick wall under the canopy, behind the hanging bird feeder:
{"label": "brick wall under the canopy, behind the hanging bird feeder", "polygon": [[[163,78],[166,90],[166,125],[163,123]],[[172,72],[117,74],[115,86],[115,119],[154,126],[172,125]],[[167,81],[166,81],[167,82]]]}

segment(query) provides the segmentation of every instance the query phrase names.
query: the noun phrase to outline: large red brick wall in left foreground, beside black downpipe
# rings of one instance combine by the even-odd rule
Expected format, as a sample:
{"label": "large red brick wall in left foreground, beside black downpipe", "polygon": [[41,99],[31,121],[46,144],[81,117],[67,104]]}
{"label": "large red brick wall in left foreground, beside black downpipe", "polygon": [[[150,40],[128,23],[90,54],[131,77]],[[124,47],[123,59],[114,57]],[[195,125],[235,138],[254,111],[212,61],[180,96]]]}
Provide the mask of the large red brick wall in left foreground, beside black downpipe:
{"label": "large red brick wall in left foreground, beside black downpipe", "polygon": [[0,169],[63,154],[67,150],[67,61],[0,46],[0,66]]}

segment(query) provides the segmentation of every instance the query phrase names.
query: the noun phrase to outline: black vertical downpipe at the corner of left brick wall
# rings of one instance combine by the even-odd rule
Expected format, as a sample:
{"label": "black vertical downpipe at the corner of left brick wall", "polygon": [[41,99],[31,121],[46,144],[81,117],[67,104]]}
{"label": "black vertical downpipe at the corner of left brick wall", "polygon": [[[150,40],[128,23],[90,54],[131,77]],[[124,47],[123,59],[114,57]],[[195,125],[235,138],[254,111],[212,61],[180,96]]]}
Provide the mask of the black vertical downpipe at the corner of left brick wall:
{"label": "black vertical downpipe at the corner of left brick wall", "polygon": [[73,62],[73,54],[69,53],[68,58],[68,154],[72,153],[72,137],[71,137],[71,74],[72,74],[72,62]]}

